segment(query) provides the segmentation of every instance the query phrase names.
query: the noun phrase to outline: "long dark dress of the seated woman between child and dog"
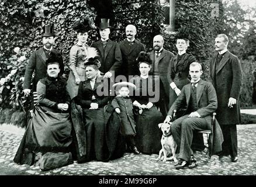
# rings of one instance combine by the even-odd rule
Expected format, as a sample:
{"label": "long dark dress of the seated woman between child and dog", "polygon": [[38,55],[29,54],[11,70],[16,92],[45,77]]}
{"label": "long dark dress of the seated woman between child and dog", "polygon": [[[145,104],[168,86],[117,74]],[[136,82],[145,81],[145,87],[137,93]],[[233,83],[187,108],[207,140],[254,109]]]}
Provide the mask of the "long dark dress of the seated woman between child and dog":
{"label": "long dark dress of the seated woman between child and dog", "polygon": [[[153,91],[154,88],[151,78],[144,79],[141,77],[134,77],[130,82],[136,85],[134,101],[139,102],[141,105],[147,105],[148,102],[152,102],[154,104],[154,102],[151,101],[154,97],[151,95],[151,91]],[[161,150],[160,141],[162,132],[158,128],[158,124],[163,121],[164,117],[155,105],[150,109],[143,109],[143,113],[136,116],[136,146],[141,153],[159,153]]]}

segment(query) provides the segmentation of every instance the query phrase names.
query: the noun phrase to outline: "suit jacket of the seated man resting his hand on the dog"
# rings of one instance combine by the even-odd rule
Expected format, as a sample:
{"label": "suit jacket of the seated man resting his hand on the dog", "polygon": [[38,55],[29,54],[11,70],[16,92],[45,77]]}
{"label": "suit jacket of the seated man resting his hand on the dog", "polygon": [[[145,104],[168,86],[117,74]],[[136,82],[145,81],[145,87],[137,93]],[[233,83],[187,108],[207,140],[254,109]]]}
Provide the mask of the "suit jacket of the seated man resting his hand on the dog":
{"label": "suit jacket of the seated man resting his hand on the dog", "polygon": [[[188,105],[191,99],[191,84],[185,85],[181,90],[181,95],[178,96],[176,101],[172,104],[169,109],[168,115],[172,116],[174,110],[179,110],[186,105],[186,114],[189,114]],[[196,87],[196,102],[198,105],[198,110],[201,117],[205,117],[209,127],[212,124],[212,113],[217,109],[217,96],[215,88],[210,82],[203,81],[200,79],[198,86]]]}

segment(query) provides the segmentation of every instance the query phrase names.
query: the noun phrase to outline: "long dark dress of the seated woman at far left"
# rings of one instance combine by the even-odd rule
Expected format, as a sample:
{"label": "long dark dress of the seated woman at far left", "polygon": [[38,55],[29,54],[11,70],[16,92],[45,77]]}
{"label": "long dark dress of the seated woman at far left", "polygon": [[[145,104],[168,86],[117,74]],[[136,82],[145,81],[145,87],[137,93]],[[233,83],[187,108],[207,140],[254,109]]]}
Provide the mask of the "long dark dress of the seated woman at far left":
{"label": "long dark dress of the seated woman at far left", "polygon": [[34,106],[32,119],[15,155],[18,164],[34,164],[37,153],[69,152],[71,120],[68,111],[57,108],[58,103],[70,102],[66,91],[66,81],[62,78],[46,77],[37,84],[38,103]]}

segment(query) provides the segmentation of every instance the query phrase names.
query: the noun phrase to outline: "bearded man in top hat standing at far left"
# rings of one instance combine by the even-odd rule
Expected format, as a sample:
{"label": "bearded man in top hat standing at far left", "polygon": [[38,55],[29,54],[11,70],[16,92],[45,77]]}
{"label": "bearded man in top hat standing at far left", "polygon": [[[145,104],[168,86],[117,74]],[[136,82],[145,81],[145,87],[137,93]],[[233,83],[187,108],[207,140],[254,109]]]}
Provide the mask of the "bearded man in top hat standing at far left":
{"label": "bearded man in top hat standing at far left", "polygon": [[[55,53],[57,56],[60,56],[61,61],[63,62],[63,57],[57,50],[53,49],[54,44],[54,26],[45,26],[43,27],[43,47],[39,50],[33,51],[29,58],[29,63],[26,66],[25,79],[23,84],[23,92],[25,96],[28,96],[31,89],[36,91],[37,82],[46,77],[47,75],[47,66],[46,60],[49,57],[50,53]],[[33,85],[30,86],[32,80],[32,74],[34,72]],[[60,75],[64,72],[64,64],[60,64]]]}

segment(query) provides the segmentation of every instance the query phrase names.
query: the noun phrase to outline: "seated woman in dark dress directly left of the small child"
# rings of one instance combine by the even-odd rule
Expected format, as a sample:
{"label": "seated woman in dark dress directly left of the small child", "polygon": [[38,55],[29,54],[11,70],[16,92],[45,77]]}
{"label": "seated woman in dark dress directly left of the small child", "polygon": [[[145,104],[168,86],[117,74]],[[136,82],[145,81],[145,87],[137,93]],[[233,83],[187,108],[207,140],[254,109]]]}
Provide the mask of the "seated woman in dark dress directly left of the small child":
{"label": "seated woman in dark dress directly left of the small child", "polygon": [[[108,161],[116,157],[114,150],[119,136],[120,122],[108,123],[109,108],[107,107],[111,97],[109,96],[108,79],[99,75],[101,63],[95,59],[89,59],[85,64],[87,80],[80,83],[75,103],[82,107],[82,125],[86,140],[84,145],[86,153],[78,157],[78,162],[84,161]],[[107,111],[106,111],[107,110]],[[112,109],[113,110],[113,109]],[[111,113],[111,112],[110,112]],[[81,125],[81,124],[75,124]],[[80,146],[81,147],[81,146]],[[77,153],[81,153],[77,146]]]}

